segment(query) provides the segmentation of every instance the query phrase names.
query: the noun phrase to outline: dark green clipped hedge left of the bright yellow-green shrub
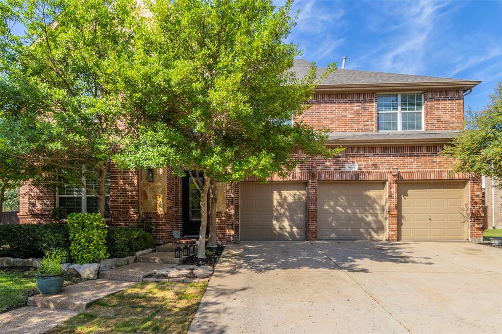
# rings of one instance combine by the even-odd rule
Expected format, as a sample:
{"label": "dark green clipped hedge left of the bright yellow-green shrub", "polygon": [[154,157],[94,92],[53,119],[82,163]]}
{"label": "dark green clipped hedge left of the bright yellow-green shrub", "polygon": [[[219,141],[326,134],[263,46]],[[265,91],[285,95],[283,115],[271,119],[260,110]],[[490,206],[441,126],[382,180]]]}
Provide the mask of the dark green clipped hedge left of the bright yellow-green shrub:
{"label": "dark green clipped hedge left of the bright yellow-green shrub", "polygon": [[0,225],[0,256],[40,258],[52,248],[70,249],[66,224]]}

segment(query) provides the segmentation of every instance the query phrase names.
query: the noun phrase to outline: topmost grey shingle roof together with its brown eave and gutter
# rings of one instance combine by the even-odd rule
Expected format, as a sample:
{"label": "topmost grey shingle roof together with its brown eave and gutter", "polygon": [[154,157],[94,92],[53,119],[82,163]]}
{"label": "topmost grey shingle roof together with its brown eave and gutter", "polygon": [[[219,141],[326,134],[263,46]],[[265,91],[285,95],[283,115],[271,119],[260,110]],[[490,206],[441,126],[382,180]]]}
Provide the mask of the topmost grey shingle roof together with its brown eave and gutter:
{"label": "topmost grey shingle roof together with its brown eave and gutter", "polygon": [[[297,78],[305,77],[310,71],[311,63],[305,59],[295,59],[291,70]],[[320,77],[327,68],[317,67]],[[471,89],[481,81],[451,79],[440,77],[426,77],[421,75],[395,74],[383,72],[369,72],[358,70],[338,69],[329,73],[321,80],[318,89],[347,90],[350,88],[366,88],[366,90],[403,89],[403,88],[456,88]]]}

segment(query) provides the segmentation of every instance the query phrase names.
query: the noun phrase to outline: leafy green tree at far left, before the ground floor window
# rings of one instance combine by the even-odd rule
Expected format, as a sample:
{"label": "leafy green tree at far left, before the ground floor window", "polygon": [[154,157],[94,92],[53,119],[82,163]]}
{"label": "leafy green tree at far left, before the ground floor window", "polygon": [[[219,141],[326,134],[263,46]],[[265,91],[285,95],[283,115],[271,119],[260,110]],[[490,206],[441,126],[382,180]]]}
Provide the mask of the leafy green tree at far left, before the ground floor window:
{"label": "leafy green tree at far left, before the ground floor window", "polygon": [[[26,139],[37,147],[29,155],[51,167],[41,181],[85,188],[103,215],[110,158],[133,114],[117,82],[134,52],[137,3],[6,0],[0,18],[2,85],[21,94],[19,100],[36,100],[7,101],[3,112],[14,118],[4,121],[40,123],[43,135]],[[16,25],[25,27],[24,35],[14,33]]]}

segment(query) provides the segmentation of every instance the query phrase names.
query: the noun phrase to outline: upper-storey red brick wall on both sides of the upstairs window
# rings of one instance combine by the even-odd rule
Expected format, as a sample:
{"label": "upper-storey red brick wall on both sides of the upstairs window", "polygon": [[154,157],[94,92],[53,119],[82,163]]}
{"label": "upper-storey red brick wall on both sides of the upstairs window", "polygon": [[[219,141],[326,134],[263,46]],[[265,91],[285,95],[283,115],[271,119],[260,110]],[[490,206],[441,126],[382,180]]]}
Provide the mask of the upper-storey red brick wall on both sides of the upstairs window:
{"label": "upper-storey red brick wall on both sides of the upstairs window", "polygon": [[[311,107],[298,119],[314,129],[332,132],[377,130],[376,93],[315,94]],[[461,90],[424,92],[425,130],[463,128],[464,99]]]}

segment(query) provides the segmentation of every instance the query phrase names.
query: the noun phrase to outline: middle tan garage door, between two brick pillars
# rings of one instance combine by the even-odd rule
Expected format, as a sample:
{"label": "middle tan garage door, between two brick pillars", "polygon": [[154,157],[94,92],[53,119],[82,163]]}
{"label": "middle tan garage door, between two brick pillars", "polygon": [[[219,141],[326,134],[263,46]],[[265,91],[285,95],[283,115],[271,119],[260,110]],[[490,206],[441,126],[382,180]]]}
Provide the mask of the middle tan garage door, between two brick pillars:
{"label": "middle tan garage door, between two brick pillars", "polygon": [[319,182],[319,240],[384,240],[386,189],[383,182]]}

